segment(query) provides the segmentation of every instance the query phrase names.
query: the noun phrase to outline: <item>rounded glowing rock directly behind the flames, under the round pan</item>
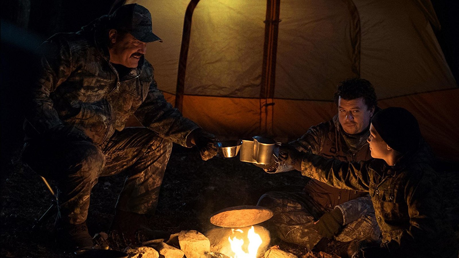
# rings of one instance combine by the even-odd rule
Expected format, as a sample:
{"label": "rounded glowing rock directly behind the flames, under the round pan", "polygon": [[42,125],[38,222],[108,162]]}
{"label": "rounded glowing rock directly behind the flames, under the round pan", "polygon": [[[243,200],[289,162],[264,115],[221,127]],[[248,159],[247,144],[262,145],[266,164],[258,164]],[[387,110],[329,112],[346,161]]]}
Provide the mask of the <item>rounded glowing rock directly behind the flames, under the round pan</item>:
{"label": "rounded glowing rock directly behind the flames, under the round pan", "polygon": [[[235,232],[230,228],[216,227],[206,232],[205,236],[210,241],[210,250],[212,252],[223,253],[224,255],[231,257],[234,256],[234,252],[231,250],[231,245],[228,241],[228,237],[233,238],[234,236],[239,239],[244,239],[244,245],[242,246],[243,250],[246,250],[248,246],[248,239],[246,239],[247,232],[252,226],[239,228],[244,231],[244,233]],[[269,247],[269,242],[271,241],[269,231],[262,226],[255,225],[253,226],[255,233],[260,235],[262,239],[262,244],[258,247],[257,257],[262,257],[263,253]]]}

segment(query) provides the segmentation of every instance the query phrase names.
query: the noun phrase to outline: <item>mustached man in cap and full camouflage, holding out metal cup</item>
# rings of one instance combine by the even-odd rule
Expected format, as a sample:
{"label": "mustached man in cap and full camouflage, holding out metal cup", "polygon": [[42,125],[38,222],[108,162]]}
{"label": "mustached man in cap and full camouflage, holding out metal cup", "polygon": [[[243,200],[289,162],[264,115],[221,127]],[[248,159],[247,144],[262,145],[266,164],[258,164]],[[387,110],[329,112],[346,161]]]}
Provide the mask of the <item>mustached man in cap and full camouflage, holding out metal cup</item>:
{"label": "mustached man in cap and full camouflage, holding out metal cup", "polygon": [[[101,176],[127,173],[112,230],[133,238],[157,206],[172,142],[216,155],[214,135],[184,118],[158,90],[145,60],[152,33],[143,6],[121,6],[77,33],[46,40],[31,85],[24,161],[57,182],[57,240],[91,247],[86,227],[90,193]],[[124,128],[134,115],[144,127]]]}

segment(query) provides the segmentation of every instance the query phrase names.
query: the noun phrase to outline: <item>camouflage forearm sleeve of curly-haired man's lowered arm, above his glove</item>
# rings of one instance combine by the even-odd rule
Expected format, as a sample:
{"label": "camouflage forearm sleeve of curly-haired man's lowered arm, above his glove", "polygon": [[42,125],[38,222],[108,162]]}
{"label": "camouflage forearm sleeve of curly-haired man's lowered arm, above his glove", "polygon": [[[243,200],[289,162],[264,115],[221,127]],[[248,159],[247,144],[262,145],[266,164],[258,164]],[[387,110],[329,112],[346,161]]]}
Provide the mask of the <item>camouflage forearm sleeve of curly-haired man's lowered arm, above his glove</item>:
{"label": "camouflage forearm sleeve of curly-haired man's lowered arm, above his glove", "polygon": [[369,195],[355,198],[349,202],[337,205],[336,207],[343,213],[343,225],[360,219],[369,213],[375,213],[373,202],[371,202],[371,197]]}

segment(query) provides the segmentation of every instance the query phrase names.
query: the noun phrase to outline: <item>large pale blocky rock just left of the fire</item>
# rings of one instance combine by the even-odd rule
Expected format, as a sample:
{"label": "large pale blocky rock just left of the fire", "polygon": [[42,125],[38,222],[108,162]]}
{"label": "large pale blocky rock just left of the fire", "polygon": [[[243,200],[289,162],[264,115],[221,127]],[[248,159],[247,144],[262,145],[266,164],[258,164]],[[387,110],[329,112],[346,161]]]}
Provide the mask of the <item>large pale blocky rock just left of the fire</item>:
{"label": "large pale blocky rock just left of the fire", "polygon": [[[186,258],[209,257],[207,253],[210,252],[210,241],[198,231],[181,231],[177,236],[180,249],[185,252]],[[171,239],[173,239],[173,236],[171,236]]]}

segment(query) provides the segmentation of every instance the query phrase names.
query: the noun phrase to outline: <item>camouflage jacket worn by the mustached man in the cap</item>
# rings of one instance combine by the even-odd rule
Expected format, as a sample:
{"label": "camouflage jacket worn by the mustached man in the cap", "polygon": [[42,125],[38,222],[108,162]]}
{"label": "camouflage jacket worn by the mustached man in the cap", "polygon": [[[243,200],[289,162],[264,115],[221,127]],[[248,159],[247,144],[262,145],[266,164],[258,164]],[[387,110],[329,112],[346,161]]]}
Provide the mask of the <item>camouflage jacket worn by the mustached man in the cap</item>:
{"label": "camouflage jacket worn by the mustached man in the cap", "polygon": [[39,47],[40,72],[26,100],[26,137],[73,125],[99,145],[134,115],[161,137],[186,146],[198,126],[164,99],[143,57],[120,78],[109,62],[105,24],[106,16],[77,33],[55,34]]}

